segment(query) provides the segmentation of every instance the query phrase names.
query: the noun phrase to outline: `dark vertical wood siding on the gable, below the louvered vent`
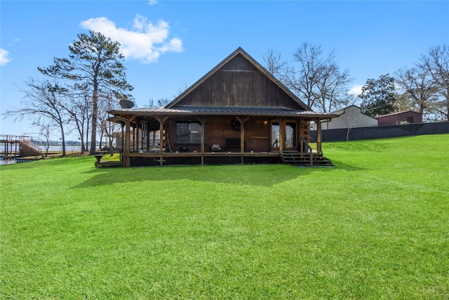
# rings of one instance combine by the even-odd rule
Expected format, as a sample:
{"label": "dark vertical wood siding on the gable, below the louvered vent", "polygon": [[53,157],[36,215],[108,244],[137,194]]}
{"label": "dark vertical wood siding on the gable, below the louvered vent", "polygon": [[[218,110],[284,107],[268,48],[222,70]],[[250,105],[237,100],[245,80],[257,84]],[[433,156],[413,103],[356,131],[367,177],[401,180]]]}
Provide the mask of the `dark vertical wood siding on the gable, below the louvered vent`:
{"label": "dark vertical wood siding on the gable, below the louvered vent", "polygon": [[219,70],[177,105],[302,107],[260,71]]}

